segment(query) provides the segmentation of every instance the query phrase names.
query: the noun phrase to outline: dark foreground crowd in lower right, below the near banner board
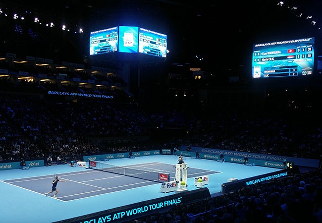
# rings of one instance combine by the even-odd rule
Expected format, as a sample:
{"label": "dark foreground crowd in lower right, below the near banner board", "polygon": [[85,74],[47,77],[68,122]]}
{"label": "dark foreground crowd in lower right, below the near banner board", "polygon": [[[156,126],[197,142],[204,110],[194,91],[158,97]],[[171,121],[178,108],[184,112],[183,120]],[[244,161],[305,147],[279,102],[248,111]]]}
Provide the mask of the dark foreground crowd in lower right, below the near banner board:
{"label": "dark foreground crowd in lower right, below the near banner board", "polygon": [[180,204],[128,223],[322,223],[321,168]]}

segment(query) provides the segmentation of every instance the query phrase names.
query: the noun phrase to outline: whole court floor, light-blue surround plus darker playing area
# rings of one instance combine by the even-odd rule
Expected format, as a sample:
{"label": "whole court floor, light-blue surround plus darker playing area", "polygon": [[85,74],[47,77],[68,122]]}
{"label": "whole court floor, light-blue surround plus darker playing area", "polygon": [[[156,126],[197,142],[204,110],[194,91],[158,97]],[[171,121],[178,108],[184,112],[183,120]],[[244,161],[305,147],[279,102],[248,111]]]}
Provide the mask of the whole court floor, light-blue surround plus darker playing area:
{"label": "whole court floor, light-blue surround plus darker playing area", "polygon": [[[173,180],[177,160],[178,156],[154,155],[107,163],[169,173]],[[209,175],[209,184],[204,187],[212,196],[220,194],[221,184],[229,178],[244,179],[279,170],[187,157],[184,161],[189,167],[187,189],[198,189],[194,186],[195,178]],[[52,189],[55,173],[59,179],[67,180],[58,182],[57,199],[53,198],[54,193],[45,195]],[[159,182],[68,165],[1,170],[1,222],[52,223],[174,194],[162,193],[160,189]]]}

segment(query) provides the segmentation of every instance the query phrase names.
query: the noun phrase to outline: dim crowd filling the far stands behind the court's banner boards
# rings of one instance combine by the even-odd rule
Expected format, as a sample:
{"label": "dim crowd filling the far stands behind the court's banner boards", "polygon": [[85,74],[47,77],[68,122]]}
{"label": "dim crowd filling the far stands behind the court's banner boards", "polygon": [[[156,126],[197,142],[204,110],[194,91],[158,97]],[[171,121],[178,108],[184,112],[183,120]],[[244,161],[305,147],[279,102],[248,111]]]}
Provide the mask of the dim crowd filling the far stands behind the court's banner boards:
{"label": "dim crowd filling the far stands behind the court's banner boards", "polygon": [[[136,105],[38,95],[0,97],[2,160],[44,158],[51,153],[70,157],[128,152],[134,147],[134,151],[173,149],[174,145],[321,158],[322,123],[313,113],[281,116],[218,111],[200,117],[175,109],[147,111]],[[171,128],[186,133],[162,138],[162,132]],[[161,140],[150,137],[156,129]]]}

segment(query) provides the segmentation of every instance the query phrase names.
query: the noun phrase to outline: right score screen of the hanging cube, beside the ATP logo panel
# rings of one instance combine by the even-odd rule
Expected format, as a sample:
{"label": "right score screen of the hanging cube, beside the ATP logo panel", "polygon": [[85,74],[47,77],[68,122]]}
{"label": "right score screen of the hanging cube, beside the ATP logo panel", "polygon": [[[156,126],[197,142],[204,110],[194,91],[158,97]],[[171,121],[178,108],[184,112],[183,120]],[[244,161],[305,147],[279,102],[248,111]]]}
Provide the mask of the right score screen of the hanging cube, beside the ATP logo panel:
{"label": "right score screen of the hanging cube, beside the ATP logo panel", "polygon": [[167,35],[139,28],[139,53],[166,57]]}

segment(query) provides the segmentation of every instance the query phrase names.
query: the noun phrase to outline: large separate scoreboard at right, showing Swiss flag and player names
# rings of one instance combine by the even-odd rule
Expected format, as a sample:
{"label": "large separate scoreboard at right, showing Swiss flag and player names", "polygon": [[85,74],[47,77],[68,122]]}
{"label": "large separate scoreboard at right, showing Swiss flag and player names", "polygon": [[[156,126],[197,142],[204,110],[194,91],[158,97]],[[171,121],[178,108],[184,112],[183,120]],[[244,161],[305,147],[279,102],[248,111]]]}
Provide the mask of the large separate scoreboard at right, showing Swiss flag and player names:
{"label": "large separate scoreboard at right, showing Swiss flag and player names", "polygon": [[278,78],[312,76],[314,37],[254,44],[252,77]]}

